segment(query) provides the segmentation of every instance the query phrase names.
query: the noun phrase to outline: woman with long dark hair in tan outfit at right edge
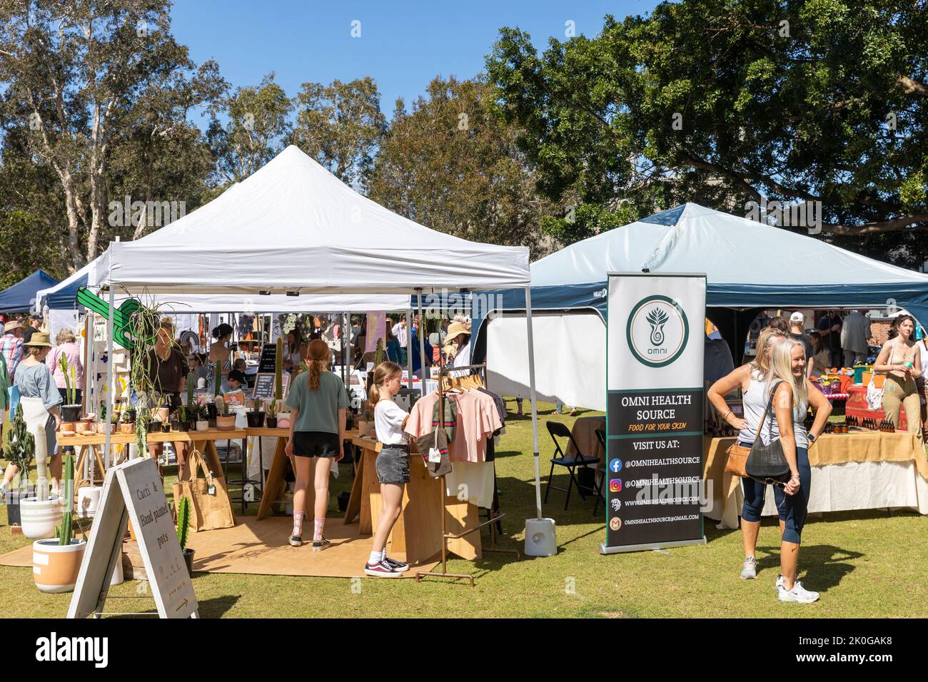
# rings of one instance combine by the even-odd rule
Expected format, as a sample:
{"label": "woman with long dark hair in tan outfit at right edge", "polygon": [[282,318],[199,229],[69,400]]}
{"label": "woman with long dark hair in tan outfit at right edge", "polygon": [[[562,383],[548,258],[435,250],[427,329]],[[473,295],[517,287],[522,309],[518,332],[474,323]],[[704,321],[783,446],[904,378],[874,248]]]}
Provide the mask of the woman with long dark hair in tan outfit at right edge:
{"label": "woman with long dark hair in tan outfit at right edge", "polygon": [[921,343],[912,341],[915,319],[898,315],[889,328],[889,341],[873,363],[874,372],[883,372],[883,413],[899,428],[899,408],[906,408],[906,431],[922,431],[922,400],[915,380],[922,376]]}

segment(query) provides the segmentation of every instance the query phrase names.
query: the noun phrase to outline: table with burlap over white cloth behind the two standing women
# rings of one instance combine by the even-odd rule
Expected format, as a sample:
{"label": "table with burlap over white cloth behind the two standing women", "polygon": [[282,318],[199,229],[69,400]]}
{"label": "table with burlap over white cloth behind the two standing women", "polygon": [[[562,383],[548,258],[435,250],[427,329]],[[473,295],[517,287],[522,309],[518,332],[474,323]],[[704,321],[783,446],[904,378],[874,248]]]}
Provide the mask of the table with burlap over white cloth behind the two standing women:
{"label": "table with burlap over white cloth behind the two standing women", "polygon": [[[744,494],[741,478],[725,473],[726,451],[735,438],[702,441],[702,475],[712,504],[705,516],[718,528],[737,528]],[[928,514],[928,458],[919,434],[896,431],[823,433],[808,451],[812,467],[810,513],[854,509],[911,508]],[[776,516],[767,488],[763,516]]]}

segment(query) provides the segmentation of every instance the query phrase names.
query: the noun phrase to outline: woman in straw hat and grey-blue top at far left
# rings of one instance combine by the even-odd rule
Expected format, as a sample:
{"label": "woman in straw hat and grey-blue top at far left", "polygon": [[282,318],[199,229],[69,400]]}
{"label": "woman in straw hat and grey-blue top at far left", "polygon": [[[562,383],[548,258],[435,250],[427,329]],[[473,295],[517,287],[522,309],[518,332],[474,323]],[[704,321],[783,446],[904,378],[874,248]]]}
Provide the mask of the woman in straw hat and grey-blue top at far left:
{"label": "woman in straw hat and grey-blue top at far left", "polygon": [[[61,456],[55,451],[58,441],[55,431],[61,423],[58,405],[61,405],[61,393],[55,384],[52,370],[45,365],[45,356],[52,348],[48,334],[36,331],[28,343],[22,344],[25,356],[16,370],[15,385],[19,387],[19,396],[22,398],[39,398],[48,411],[48,420],[45,422],[45,442],[48,445],[49,470],[55,481],[61,480]],[[17,474],[19,468],[10,465],[6,468],[3,483],[0,489],[5,493],[9,482]],[[6,497],[6,495],[4,495]]]}

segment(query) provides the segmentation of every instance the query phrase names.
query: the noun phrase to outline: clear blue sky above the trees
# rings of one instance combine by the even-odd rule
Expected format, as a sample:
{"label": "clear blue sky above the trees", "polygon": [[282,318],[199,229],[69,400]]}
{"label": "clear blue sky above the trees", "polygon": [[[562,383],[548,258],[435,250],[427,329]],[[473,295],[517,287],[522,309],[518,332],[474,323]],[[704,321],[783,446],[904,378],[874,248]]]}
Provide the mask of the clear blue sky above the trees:
{"label": "clear blue sky above the trees", "polygon": [[[406,108],[436,75],[470,76],[503,26],[519,26],[544,48],[549,36],[596,35],[613,14],[647,14],[654,0],[486,0],[432,2],[319,2],[176,0],[174,37],[198,64],[213,58],[233,87],[261,82],[274,71],[290,97],[307,81],[328,84],[371,76],[380,108],[390,115],[396,97]],[[352,37],[360,21],[361,36]]]}

